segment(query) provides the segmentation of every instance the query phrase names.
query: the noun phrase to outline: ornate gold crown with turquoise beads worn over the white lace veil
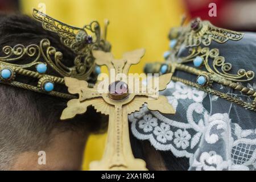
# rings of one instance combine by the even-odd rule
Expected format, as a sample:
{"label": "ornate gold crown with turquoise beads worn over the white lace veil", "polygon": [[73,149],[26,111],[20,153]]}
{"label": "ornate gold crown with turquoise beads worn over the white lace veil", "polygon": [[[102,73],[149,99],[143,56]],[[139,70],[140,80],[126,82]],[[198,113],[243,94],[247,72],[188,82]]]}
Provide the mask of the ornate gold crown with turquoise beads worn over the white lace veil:
{"label": "ornate gold crown with turquoise beads worn over the white lace veil", "polygon": [[[166,63],[147,64],[144,69],[145,72],[165,74],[179,70],[196,75],[197,82],[175,76],[172,77],[172,80],[183,82],[186,85],[234,102],[246,109],[256,111],[255,90],[241,84],[241,82],[252,80],[255,73],[239,69],[236,75],[230,74],[232,64],[226,63],[225,57],[221,56],[217,48],[208,47],[213,41],[223,44],[228,41],[241,40],[243,38],[242,33],[218,28],[208,21],[197,18],[192,20],[187,27],[172,28],[169,38],[171,40],[170,51],[164,53]],[[188,48],[188,55],[180,57],[179,51],[184,47]],[[193,63],[194,67],[189,66],[189,63]],[[232,94],[215,90],[213,83],[238,90],[249,97],[253,97],[253,101],[246,102]]]}

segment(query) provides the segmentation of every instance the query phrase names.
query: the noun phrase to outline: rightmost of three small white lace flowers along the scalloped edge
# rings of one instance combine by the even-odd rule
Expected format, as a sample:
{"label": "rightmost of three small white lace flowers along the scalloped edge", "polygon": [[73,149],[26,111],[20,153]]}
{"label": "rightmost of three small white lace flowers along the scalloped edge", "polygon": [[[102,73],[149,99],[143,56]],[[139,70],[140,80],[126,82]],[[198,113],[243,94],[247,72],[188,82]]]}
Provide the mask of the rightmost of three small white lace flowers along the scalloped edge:
{"label": "rightmost of three small white lace flowers along the scalloped edge", "polygon": [[183,150],[188,148],[189,146],[189,140],[191,139],[191,135],[188,133],[188,131],[184,130],[177,130],[175,132],[175,139],[174,139],[174,143],[176,145],[177,148],[182,148]]}

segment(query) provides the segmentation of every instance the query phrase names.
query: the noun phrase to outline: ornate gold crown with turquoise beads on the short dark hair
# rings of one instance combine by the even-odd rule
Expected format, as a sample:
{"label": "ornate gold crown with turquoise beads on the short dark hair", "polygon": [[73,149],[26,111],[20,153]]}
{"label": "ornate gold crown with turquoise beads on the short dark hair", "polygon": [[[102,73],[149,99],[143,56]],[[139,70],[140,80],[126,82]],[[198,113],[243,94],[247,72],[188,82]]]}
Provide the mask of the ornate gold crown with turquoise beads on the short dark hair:
{"label": "ornate gold crown with turquoise beads on the short dark hair", "polygon": [[[63,63],[63,53],[52,47],[48,39],[43,39],[38,45],[6,46],[2,49],[5,56],[0,57],[0,82],[52,96],[74,98],[75,96],[71,94],[55,92],[55,84],[64,85],[64,77],[95,82],[100,68],[95,64],[92,51],[108,52],[111,46],[101,38],[100,24],[96,21],[83,28],[77,28],[61,23],[35,9],[33,16],[42,22],[45,30],[56,32],[60,36],[60,42],[71,49],[75,55],[72,66]],[[106,26],[108,26],[108,22],[106,22]],[[20,62],[21,59],[26,59],[26,63]],[[47,75],[49,68],[56,74]],[[15,81],[16,75],[37,78],[38,84],[28,85]]]}

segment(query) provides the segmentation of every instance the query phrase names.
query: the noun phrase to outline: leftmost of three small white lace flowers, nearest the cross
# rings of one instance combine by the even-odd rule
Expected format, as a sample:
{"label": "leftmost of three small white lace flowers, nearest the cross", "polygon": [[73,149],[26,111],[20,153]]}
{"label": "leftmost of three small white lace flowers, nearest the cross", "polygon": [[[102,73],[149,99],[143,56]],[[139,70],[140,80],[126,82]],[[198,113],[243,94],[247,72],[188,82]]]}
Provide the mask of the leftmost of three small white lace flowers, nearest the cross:
{"label": "leftmost of three small white lace flowers, nearest the cross", "polygon": [[155,126],[158,126],[158,119],[153,118],[151,114],[144,115],[143,119],[139,121],[139,128],[143,129],[145,133],[152,131]]}

